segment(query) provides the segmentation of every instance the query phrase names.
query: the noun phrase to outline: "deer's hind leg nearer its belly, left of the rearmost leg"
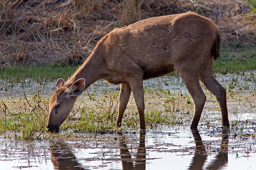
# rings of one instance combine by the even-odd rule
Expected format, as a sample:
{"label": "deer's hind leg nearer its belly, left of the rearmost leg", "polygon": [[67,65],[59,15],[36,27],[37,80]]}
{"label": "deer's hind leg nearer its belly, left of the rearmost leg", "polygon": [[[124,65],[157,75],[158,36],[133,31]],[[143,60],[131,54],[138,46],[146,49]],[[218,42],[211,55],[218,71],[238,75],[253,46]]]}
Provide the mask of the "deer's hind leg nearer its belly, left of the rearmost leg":
{"label": "deer's hind leg nearer its belly, left of the rearmost leg", "polygon": [[[190,71],[191,70],[193,69],[190,69]],[[196,72],[188,73],[188,71],[179,71],[179,74],[187,86],[188,92],[190,93],[194,102],[194,116],[190,128],[197,128],[204,108],[204,103],[206,101],[206,96],[204,95],[204,92],[199,84],[198,74],[196,74]]]}

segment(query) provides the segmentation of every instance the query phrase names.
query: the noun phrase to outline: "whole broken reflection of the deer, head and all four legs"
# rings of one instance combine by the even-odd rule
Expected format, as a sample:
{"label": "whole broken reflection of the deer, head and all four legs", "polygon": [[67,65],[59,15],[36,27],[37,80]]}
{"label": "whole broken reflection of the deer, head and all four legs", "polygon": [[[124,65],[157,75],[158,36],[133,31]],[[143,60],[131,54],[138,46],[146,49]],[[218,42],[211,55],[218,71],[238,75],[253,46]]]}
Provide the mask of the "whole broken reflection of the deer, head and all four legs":
{"label": "whole broken reflection of the deer, head and all four legs", "polygon": [[[127,146],[127,141],[125,141],[125,137],[123,135],[119,135],[118,141],[119,141],[119,151],[120,151],[120,157],[121,157],[121,163],[122,163],[122,169],[123,170],[145,170],[146,169],[146,149],[145,149],[145,131],[140,132],[140,139],[139,139],[139,146],[137,153],[129,151],[129,148]],[[188,169],[190,170],[202,170],[202,169],[211,169],[211,170],[217,170],[221,169],[224,166],[227,166],[228,164],[228,130],[222,130],[222,140],[220,149],[218,150],[218,154],[210,161],[206,161],[207,158],[209,159],[207,155],[206,148],[202,142],[202,138],[198,132],[198,130],[192,130],[192,135],[194,137],[195,141],[195,153],[193,155],[193,158],[190,161],[190,165]],[[129,139],[128,139],[129,140]],[[133,142],[132,142],[133,143]],[[129,145],[129,144],[128,144]],[[74,149],[66,144],[63,143],[55,143],[51,146],[52,153],[51,153],[51,161],[54,166],[54,169],[59,170],[66,170],[66,169],[84,169],[85,167],[88,167],[89,169],[92,169],[92,166],[85,166],[83,163],[79,163],[75,155],[73,154]],[[172,149],[171,149],[172,150]],[[111,153],[114,152],[110,151]],[[152,152],[152,151],[149,151]],[[96,152],[95,152],[96,153]],[[98,157],[97,155],[96,157]],[[212,157],[211,157],[212,158]],[[83,158],[84,159],[84,158]],[[174,159],[172,157],[168,159]],[[81,159],[80,159],[81,160]],[[119,162],[120,159],[108,159],[110,162]],[[81,161],[80,161],[81,162]],[[150,160],[148,160],[150,162]],[[120,165],[119,165],[120,166]],[[100,168],[99,166],[97,168]],[[105,166],[104,169],[109,168]],[[110,167],[113,168],[113,167]],[[101,168],[100,168],[101,169]]]}

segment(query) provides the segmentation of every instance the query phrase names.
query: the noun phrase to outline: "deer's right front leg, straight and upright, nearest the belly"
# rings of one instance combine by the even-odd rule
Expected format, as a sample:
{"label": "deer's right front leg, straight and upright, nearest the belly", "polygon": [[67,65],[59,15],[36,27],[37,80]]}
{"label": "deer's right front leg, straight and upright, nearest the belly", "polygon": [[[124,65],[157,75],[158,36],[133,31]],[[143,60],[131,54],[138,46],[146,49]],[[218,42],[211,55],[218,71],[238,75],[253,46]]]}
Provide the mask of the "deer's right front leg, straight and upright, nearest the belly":
{"label": "deer's right front leg, straight and upright, nearest the belly", "polygon": [[144,90],[142,78],[129,82],[132,88],[132,95],[139,113],[140,129],[146,129],[145,118],[144,118]]}

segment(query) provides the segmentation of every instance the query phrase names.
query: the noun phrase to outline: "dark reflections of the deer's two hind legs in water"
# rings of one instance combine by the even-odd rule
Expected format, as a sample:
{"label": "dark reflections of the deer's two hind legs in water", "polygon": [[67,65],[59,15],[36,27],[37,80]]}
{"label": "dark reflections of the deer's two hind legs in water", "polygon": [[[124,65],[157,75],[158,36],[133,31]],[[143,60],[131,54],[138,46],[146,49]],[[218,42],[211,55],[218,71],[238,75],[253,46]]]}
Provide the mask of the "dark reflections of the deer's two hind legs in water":
{"label": "dark reflections of the deer's two hind legs in water", "polygon": [[[201,136],[198,130],[192,130],[192,134],[196,144],[195,155],[191,160],[189,169],[200,170],[203,169],[204,162],[207,158],[207,152],[203,145]],[[204,169],[217,170],[228,163],[228,130],[222,130],[221,146],[218,154],[215,156],[210,165]]]}

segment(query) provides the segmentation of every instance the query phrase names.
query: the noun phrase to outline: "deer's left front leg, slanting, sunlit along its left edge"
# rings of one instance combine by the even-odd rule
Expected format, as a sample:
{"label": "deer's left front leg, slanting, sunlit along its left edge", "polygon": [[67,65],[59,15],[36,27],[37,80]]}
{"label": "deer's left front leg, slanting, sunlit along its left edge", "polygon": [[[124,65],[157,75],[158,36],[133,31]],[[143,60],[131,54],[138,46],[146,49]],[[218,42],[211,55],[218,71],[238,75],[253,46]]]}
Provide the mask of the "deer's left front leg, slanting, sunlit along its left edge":
{"label": "deer's left front leg, slanting, sunlit along its left edge", "polygon": [[129,101],[130,95],[131,95],[131,87],[129,84],[120,84],[120,94],[119,94],[119,100],[118,100],[118,115],[116,119],[116,127],[121,126],[121,122],[124,115],[124,110],[126,109],[127,103]]}

